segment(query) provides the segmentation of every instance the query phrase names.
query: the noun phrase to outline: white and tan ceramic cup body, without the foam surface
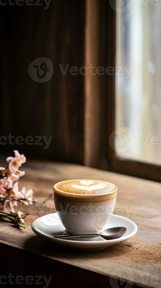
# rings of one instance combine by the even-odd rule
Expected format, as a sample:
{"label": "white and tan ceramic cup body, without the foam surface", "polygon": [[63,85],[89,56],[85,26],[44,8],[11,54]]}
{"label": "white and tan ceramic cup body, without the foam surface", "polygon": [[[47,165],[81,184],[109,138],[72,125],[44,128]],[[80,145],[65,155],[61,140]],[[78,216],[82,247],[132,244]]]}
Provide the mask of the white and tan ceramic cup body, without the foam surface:
{"label": "white and tan ceramic cup body, without the foam surface", "polygon": [[53,186],[55,207],[69,234],[99,234],[107,228],[116,203],[116,185],[107,194],[79,195],[62,192],[57,184]]}

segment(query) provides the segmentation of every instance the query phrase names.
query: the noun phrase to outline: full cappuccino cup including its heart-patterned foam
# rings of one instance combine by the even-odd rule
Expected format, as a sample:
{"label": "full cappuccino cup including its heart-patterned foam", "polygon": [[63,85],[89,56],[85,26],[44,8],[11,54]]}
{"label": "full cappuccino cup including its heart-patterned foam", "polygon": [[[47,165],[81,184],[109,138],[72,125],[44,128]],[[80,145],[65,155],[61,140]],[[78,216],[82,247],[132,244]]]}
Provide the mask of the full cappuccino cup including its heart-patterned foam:
{"label": "full cappuccino cup including its heart-patterned foam", "polygon": [[57,213],[69,234],[93,234],[106,229],[117,187],[102,180],[76,179],[53,186]]}

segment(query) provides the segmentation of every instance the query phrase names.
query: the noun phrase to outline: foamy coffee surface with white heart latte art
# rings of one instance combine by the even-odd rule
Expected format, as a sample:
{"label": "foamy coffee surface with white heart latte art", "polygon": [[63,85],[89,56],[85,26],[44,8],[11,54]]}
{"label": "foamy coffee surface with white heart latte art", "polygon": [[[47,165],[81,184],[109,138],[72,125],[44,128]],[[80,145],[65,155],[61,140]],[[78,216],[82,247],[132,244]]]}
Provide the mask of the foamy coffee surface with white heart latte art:
{"label": "foamy coffee surface with white heart latte art", "polygon": [[116,186],[110,182],[101,180],[78,179],[57,183],[56,188],[62,192],[71,194],[100,195],[113,192]]}

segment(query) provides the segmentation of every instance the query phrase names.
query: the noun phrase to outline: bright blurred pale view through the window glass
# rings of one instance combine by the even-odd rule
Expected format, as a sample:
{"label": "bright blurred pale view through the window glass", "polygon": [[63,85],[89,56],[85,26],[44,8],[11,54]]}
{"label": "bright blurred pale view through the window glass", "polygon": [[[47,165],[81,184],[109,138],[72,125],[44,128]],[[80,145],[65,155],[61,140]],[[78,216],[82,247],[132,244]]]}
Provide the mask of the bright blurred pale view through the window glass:
{"label": "bright blurred pale view through the window glass", "polygon": [[116,13],[115,151],[161,165],[161,1],[153,2]]}

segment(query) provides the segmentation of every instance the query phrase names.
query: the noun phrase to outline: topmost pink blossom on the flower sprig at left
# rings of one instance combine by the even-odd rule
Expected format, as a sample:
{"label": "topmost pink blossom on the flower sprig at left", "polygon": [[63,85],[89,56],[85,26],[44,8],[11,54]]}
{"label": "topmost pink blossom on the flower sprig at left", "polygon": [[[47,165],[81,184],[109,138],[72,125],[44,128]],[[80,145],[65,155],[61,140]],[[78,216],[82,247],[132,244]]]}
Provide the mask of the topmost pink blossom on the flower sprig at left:
{"label": "topmost pink blossom on the flower sprig at left", "polygon": [[9,170],[11,171],[11,173],[16,174],[18,168],[21,167],[21,165],[26,162],[26,157],[23,154],[20,155],[20,153],[17,150],[14,150],[14,153],[15,157],[14,158],[8,157],[6,161],[7,163],[9,163]]}

